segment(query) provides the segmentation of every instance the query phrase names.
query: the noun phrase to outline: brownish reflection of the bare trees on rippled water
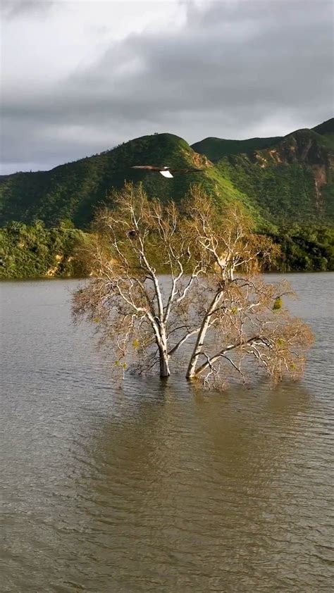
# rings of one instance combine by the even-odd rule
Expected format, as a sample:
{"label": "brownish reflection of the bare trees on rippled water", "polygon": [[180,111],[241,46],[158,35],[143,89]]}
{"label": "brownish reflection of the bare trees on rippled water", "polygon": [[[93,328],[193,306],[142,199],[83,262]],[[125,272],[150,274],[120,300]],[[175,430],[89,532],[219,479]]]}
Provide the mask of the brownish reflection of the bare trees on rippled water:
{"label": "brownish reflection of the bare trees on rippled water", "polygon": [[[159,590],[166,575],[168,590],[233,590],[236,575],[245,591],[259,578],[278,587],[303,582],[297,558],[302,550],[314,557],[298,527],[305,505],[309,512],[298,477],[309,394],[285,385],[274,397],[259,387],[256,397],[240,389],[187,405],[180,383],[160,389],[132,400],[122,422],[101,423],[77,481],[85,536],[94,533],[89,549],[99,557],[108,544],[113,587],[138,579],[141,590]],[[85,461],[87,449],[75,456]],[[321,512],[312,510],[309,531]]]}

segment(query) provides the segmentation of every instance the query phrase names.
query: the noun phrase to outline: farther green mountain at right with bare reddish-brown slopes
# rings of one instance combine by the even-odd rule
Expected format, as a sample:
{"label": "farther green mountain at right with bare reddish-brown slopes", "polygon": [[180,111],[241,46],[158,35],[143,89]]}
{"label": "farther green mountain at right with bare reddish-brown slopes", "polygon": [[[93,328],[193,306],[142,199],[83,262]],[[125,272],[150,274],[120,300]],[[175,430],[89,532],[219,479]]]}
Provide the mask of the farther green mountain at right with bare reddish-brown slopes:
{"label": "farther green mountain at right with bare reddish-brown slopes", "polygon": [[278,225],[334,221],[334,151],[328,137],[297,130],[269,149],[231,155],[216,168],[256,201],[261,215]]}

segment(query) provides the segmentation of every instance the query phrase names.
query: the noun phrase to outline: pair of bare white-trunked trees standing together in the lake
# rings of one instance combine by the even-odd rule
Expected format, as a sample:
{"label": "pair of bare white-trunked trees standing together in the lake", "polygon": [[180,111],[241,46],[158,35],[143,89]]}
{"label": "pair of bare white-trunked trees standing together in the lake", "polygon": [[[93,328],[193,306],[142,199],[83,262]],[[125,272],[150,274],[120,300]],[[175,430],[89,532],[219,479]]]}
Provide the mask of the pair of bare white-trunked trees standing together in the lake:
{"label": "pair of bare white-trunked trees standing together in the lake", "polygon": [[170,375],[181,347],[189,380],[245,380],[254,360],[272,380],[302,371],[311,332],[283,307],[286,283],[261,263],[276,246],[235,205],[219,209],[198,186],[180,209],[149,201],[141,186],[113,192],[97,216],[88,258],[94,277],[74,296],[75,318],[97,323],[116,365]]}

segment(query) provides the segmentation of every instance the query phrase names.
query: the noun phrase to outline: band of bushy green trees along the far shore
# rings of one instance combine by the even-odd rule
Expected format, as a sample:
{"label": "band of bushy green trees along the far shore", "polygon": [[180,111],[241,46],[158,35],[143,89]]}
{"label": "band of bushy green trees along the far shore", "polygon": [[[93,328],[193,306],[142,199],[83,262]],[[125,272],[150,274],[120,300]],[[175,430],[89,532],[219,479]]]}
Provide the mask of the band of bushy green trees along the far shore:
{"label": "band of bushy green trees along the far shore", "polygon": [[[268,272],[334,270],[334,230],[325,225],[282,227],[270,233],[280,252],[266,264]],[[0,278],[86,277],[91,274],[82,250],[91,232],[64,220],[47,227],[41,220],[27,225],[12,221],[0,229]]]}

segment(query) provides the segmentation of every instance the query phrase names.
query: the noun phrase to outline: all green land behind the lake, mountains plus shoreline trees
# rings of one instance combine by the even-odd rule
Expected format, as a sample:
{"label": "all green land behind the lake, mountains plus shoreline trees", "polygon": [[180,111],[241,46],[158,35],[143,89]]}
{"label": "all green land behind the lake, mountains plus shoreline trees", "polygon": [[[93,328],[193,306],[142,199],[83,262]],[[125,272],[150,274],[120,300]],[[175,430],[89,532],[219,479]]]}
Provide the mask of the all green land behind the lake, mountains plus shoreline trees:
{"label": "all green land behind the lake, mountains plus shoreline trees", "polygon": [[[166,179],[138,164],[198,167]],[[334,119],[285,137],[143,136],[50,171],[0,177],[0,278],[86,275],[80,253],[94,210],[125,180],[179,201],[201,183],[217,201],[241,201],[281,255],[271,269],[334,269]],[[16,221],[16,222],[13,222]],[[77,227],[76,229],[73,226]]]}

